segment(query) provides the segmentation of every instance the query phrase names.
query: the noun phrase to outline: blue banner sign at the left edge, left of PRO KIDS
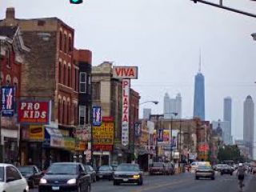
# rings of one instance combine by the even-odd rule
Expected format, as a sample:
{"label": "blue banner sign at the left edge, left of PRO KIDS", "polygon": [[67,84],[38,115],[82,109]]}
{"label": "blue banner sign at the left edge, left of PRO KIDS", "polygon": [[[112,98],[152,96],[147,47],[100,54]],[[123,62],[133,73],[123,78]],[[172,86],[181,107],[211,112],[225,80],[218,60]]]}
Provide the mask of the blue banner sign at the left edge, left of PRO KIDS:
{"label": "blue banner sign at the left edge, left of PRO KIDS", "polygon": [[1,87],[1,110],[3,117],[14,116],[14,86]]}

